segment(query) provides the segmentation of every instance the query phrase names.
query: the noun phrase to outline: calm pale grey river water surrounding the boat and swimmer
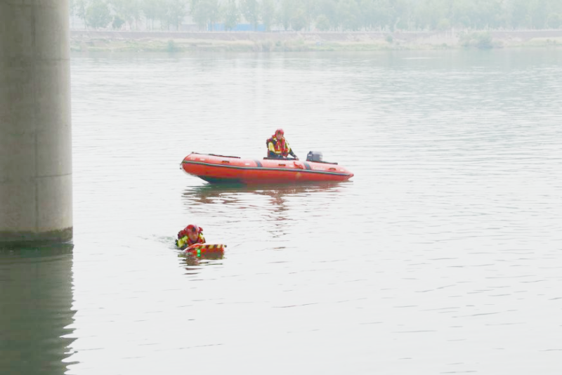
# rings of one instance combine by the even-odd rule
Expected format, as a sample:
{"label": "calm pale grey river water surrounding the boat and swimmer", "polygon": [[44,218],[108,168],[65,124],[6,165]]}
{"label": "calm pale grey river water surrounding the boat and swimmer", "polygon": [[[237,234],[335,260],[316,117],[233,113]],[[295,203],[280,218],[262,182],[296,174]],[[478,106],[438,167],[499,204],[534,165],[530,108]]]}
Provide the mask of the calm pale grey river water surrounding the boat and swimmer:
{"label": "calm pale grey river water surrounding the boat and swimmer", "polygon": [[[74,55],[74,247],[1,254],[0,364],[560,374],[561,82],[559,49]],[[179,169],[278,127],[355,176]],[[225,256],[178,257],[188,223]]]}

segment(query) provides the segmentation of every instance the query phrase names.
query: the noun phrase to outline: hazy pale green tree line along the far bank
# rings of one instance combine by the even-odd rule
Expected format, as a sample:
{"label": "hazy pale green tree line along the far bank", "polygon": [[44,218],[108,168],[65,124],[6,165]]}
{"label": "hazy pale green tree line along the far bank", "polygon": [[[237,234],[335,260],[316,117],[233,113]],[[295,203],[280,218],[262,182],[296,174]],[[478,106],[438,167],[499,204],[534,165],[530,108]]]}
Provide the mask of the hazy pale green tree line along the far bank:
{"label": "hazy pale green tree line along the far bank", "polygon": [[70,14],[93,29],[420,31],[558,29],[561,0],[70,0]]}

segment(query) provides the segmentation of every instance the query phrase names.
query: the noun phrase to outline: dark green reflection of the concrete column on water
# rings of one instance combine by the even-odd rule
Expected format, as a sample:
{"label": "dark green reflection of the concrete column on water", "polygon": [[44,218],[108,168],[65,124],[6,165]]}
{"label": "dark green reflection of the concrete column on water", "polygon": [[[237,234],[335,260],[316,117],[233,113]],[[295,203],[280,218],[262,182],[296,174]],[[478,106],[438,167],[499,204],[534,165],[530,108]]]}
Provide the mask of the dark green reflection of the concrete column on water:
{"label": "dark green reflection of the concrete column on water", "polygon": [[72,244],[0,249],[0,374],[64,374],[74,329]]}

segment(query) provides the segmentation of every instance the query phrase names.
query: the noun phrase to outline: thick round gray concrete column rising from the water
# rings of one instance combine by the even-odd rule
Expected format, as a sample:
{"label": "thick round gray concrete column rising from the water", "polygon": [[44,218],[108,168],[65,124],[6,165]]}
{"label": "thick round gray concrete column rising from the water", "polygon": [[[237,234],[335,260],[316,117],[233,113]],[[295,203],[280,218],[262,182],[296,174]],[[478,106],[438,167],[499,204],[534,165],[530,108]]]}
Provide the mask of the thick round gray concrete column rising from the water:
{"label": "thick round gray concrete column rising from the water", "polygon": [[0,0],[0,242],[72,238],[67,0]]}

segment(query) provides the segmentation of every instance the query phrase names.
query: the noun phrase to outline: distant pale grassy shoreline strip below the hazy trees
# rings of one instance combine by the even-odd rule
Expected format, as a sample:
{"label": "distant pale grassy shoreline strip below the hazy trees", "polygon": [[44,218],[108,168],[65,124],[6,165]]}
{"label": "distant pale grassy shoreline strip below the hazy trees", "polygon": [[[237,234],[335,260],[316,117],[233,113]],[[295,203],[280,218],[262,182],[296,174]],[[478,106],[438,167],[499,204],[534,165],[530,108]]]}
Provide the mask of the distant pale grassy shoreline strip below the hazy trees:
{"label": "distant pale grassy shoreline strip below the hazy trees", "polygon": [[471,32],[70,31],[73,52],[393,51],[561,46],[562,29]]}

